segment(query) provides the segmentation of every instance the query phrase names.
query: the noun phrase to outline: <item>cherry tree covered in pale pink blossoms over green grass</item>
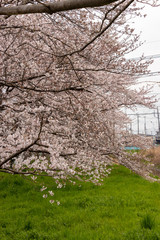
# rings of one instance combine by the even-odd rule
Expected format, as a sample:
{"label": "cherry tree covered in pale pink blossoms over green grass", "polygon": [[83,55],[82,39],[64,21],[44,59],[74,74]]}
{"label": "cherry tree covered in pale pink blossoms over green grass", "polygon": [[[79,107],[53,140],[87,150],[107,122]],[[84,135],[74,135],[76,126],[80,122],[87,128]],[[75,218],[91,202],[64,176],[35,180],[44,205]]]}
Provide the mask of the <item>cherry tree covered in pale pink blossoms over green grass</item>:
{"label": "cherry tree covered in pale pink blossoms over green grass", "polygon": [[0,171],[96,183],[122,157],[121,108],[152,104],[131,89],[150,64],[126,59],[139,45],[132,2],[0,18]]}

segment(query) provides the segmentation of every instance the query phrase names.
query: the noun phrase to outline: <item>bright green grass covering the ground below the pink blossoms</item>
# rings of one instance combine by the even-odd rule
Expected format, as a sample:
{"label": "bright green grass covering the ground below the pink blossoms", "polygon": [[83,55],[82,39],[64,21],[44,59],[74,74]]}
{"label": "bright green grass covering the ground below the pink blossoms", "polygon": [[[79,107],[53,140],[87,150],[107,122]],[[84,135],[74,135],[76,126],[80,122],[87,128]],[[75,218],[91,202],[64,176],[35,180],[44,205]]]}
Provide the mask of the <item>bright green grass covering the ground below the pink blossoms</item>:
{"label": "bright green grass covering the ground below the pink blossoms", "polygon": [[[45,184],[44,184],[45,183]],[[61,204],[49,203],[42,185]],[[80,186],[81,185],[81,186]],[[115,166],[102,186],[56,189],[50,178],[36,183],[0,174],[0,240],[158,240],[160,184]]]}

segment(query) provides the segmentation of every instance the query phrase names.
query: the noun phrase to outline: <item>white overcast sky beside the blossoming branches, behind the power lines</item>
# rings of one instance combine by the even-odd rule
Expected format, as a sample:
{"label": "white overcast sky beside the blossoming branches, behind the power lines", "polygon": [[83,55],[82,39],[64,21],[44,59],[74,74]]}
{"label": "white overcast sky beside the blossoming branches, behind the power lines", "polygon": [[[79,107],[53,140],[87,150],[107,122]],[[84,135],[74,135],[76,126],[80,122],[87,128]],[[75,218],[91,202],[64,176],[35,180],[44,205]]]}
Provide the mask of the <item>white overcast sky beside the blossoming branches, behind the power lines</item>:
{"label": "white overcast sky beside the blossoming branches, behind the power lines", "polygon": [[[141,5],[142,6],[142,5]],[[142,11],[147,16],[145,18],[136,18],[134,19],[133,27],[135,28],[136,33],[141,33],[141,41],[145,42],[139,49],[135,50],[129,55],[129,58],[140,57],[142,54],[144,56],[153,56],[154,63],[150,66],[151,72],[160,72],[160,7],[151,7],[146,5]],[[159,56],[156,56],[158,55]],[[140,82],[144,84],[153,84],[153,93],[157,94],[157,106],[159,106],[160,111],[160,74],[151,77],[143,77],[139,79]],[[152,94],[152,93],[151,93]],[[157,115],[155,114],[146,114],[142,113],[153,113],[154,109],[138,108],[133,114],[138,113],[139,115],[139,128],[140,132],[145,132],[145,122],[146,122],[146,131],[148,134],[155,134],[158,130],[158,120]],[[155,111],[156,112],[156,111]],[[127,110],[127,113],[131,111]],[[137,124],[137,115],[132,117],[132,130],[134,133],[138,131]]]}

